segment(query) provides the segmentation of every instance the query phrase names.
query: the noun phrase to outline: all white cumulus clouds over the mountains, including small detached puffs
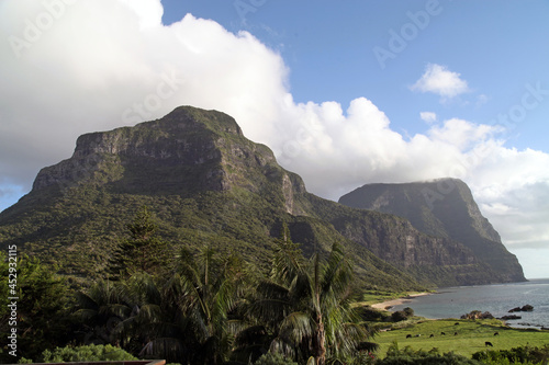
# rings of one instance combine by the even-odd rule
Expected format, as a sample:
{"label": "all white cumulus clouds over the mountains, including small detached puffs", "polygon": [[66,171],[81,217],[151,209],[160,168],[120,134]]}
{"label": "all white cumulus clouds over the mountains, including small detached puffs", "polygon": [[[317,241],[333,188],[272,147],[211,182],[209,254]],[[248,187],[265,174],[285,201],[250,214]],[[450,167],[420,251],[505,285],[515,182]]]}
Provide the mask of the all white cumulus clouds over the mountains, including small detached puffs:
{"label": "all white cumulus clouds over the mountains, including small detached puffs", "polygon": [[[0,198],[29,191],[83,133],[194,105],[234,116],[320,196],[451,175],[471,186],[504,242],[547,246],[549,198],[537,197],[549,197],[549,155],[505,148],[496,127],[459,118],[403,136],[367,98],[295,103],[283,59],[251,34],[191,14],[165,26],[161,14],[158,0],[0,3]],[[442,98],[468,90],[439,65],[413,88]]]}

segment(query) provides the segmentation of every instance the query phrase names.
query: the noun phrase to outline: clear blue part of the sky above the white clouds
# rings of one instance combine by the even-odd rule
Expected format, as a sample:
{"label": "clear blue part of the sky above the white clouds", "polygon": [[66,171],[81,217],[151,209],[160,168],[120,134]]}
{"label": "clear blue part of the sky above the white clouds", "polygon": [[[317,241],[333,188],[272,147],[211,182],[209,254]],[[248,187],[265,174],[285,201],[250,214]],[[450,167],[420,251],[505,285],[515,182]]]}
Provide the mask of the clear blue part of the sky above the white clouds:
{"label": "clear blue part of the sky above the white clouds", "polygon": [[[366,96],[403,133],[425,132],[423,111],[442,119],[492,123],[520,101],[526,83],[539,81],[549,89],[547,1],[315,1],[311,5],[284,0],[165,0],[163,4],[167,24],[191,12],[231,32],[247,30],[279,52],[290,68],[296,102],[347,105]],[[417,20],[427,24],[419,28],[413,19],[427,7],[434,14]],[[373,49],[391,52],[391,31],[410,32],[412,39],[404,39],[403,49],[386,58],[382,69]],[[470,91],[444,104],[436,94],[411,92],[408,85],[428,64],[460,73]],[[548,115],[549,102],[528,111],[507,136],[506,146],[547,151],[549,124],[542,121]]]}

